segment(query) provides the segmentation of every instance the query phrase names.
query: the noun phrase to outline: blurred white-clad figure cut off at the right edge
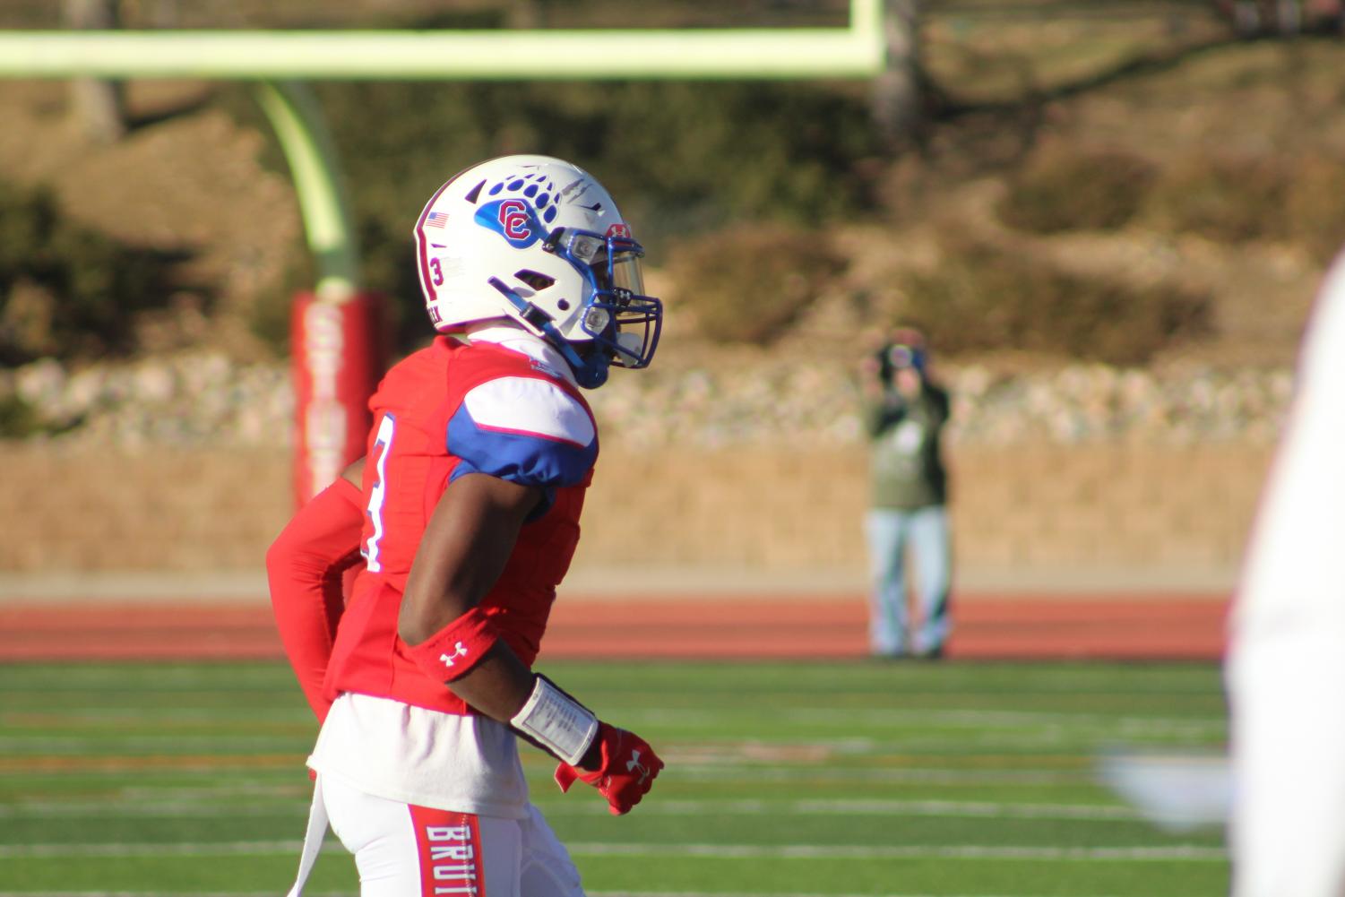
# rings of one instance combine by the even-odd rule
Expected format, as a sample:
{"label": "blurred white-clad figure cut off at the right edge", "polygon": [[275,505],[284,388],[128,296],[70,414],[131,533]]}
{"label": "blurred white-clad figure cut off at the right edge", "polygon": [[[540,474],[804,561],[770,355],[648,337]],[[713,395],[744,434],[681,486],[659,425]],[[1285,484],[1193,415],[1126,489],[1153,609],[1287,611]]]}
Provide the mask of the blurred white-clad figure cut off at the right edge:
{"label": "blurred white-clad figure cut off at the right edge", "polygon": [[1345,254],[1313,309],[1233,604],[1236,897],[1345,894],[1342,554]]}

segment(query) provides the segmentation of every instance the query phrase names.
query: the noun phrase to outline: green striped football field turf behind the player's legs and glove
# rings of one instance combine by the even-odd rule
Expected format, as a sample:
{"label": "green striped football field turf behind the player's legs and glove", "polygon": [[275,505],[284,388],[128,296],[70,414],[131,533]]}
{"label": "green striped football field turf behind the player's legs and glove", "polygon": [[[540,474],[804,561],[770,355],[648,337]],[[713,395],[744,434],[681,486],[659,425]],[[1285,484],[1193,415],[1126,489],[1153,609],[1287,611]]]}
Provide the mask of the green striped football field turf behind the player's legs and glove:
{"label": "green striped football field turf behind the player's legs and glove", "polygon": [[[1227,893],[1220,830],[1158,830],[1095,773],[1221,749],[1209,664],[543,668],[667,761],[613,818],[525,749],[594,896]],[[282,894],[313,734],[280,663],[0,667],[0,897]],[[330,842],[308,893],[356,890]]]}

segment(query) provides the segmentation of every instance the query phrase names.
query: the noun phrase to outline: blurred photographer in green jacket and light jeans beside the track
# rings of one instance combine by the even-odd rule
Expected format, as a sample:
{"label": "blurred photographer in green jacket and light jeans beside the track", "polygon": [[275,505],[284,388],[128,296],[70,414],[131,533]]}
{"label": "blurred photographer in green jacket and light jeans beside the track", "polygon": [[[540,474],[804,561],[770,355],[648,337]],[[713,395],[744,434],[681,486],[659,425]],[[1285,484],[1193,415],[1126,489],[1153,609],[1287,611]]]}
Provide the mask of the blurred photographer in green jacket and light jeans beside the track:
{"label": "blurred photographer in green jacket and light jeans beside the track", "polygon": [[[863,420],[873,444],[865,534],[873,594],[869,647],[874,656],[943,656],[951,620],[952,550],[948,475],[940,436],[948,393],[929,379],[924,336],[893,329],[859,370]],[[915,562],[917,619],[907,608],[907,565]]]}

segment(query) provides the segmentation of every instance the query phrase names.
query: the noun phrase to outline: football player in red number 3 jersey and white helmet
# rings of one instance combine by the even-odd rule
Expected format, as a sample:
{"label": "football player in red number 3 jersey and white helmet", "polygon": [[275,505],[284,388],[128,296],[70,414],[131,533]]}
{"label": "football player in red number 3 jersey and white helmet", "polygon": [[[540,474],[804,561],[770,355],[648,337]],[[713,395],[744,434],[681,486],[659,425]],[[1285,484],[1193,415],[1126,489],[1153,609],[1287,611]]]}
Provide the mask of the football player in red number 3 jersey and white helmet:
{"label": "football player in red number 3 jersey and white helmet", "polygon": [[594,785],[613,814],[663,767],[531,670],[599,451],[581,387],[648,366],[662,305],[616,203],[558,159],[459,172],[414,241],[438,336],[389,371],[364,459],[266,555],[286,654],[321,719],[291,893],[330,820],[364,897],[574,897],[516,737],[560,761],[562,791]]}

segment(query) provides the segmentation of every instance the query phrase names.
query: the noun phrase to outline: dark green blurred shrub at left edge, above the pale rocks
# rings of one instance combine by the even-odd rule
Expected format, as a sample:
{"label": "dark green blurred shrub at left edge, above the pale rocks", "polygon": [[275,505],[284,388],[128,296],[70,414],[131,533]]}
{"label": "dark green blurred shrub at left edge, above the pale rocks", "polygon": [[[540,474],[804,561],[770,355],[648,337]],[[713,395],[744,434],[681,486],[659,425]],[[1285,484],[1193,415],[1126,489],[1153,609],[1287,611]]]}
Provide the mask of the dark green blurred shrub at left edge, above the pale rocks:
{"label": "dark green blurred shrub at left edge, above the pale rocks", "polygon": [[0,363],[132,348],[136,315],[167,304],[180,260],[71,223],[48,192],[0,183]]}

